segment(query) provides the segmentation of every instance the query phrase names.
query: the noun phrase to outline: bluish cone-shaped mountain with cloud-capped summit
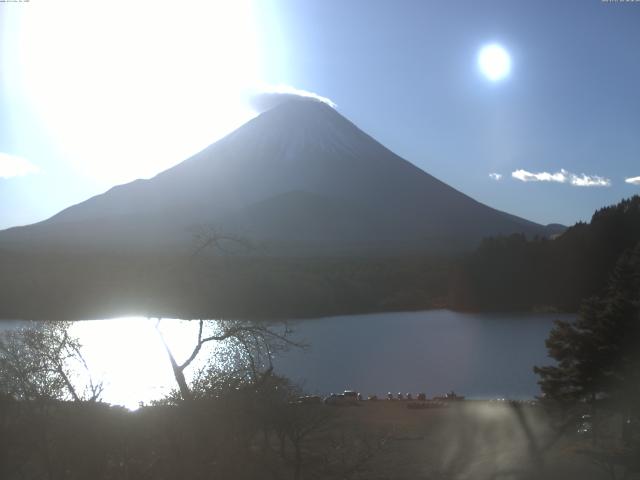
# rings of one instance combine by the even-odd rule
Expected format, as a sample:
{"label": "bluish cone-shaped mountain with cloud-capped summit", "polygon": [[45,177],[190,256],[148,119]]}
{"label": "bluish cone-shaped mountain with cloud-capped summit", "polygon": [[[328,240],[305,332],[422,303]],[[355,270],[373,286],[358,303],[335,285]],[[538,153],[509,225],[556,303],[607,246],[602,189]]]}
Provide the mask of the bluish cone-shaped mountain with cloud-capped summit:
{"label": "bluish cone-shaped mountain with cloud-capped summit", "polygon": [[4,248],[192,248],[194,228],[297,254],[468,249],[488,235],[544,235],[395,155],[333,108],[283,103],[150,180],[115,187]]}

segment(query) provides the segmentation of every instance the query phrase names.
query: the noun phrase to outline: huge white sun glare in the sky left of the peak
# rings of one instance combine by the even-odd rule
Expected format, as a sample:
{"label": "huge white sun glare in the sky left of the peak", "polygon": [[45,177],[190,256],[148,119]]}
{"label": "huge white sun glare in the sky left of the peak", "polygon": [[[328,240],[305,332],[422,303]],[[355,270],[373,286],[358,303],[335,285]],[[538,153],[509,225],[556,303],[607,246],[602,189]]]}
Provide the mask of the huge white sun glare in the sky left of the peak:
{"label": "huge white sun glare in the sky left of the peak", "polygon": [[250,0],[37,2],[19,20],[25,95],[91,178],[152,176],[253,116]]}

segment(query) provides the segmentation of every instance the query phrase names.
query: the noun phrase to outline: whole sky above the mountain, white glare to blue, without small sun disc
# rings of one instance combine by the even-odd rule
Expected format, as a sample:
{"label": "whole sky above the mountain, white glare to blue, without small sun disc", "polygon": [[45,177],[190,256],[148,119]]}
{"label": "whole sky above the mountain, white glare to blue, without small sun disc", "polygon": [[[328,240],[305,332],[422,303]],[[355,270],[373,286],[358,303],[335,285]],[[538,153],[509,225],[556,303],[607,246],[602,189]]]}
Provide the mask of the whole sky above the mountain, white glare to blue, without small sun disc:
{"label": "whole sky above the mountain, white glare to blue, without small sun disc", "polygon": [[0,228],[178,163],[265,85],[534,221],[640,193],[640,3],[31,0],[0,3],[0,41]]}

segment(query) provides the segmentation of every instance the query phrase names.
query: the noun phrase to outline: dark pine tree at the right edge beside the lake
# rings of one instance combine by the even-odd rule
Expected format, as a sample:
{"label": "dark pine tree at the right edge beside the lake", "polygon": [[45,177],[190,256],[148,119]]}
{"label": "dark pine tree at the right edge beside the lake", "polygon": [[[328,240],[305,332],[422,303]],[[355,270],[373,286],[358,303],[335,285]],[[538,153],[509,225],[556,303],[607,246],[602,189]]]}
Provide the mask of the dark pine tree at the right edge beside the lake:
{"label": "dark pine tree at the right edge beside the lake", "polygon": [[556,322],[546,345],[557,365],[534,368],[545,398],[565,406],[600,399],[618,412],[640,405],[640,243],[576,321]]}

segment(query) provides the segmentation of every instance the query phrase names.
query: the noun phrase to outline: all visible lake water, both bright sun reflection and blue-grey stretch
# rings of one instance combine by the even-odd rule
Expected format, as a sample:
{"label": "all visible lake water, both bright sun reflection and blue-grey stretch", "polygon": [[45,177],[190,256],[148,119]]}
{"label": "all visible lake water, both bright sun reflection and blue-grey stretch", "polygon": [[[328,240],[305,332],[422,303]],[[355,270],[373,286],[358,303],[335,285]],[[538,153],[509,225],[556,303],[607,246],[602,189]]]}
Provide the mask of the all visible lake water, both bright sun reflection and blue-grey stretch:
{"label": "all visible lake water, both bright sun reflection and blue-grey stretch", "polygon": [[[430,310],[293,321],[294,339],[309,346],[282,354],[275,367],[323,395],[350,388],[365,396],[455,390],[472,398],[533,398],[539,391],[532,367],[551,363],[544,341],[557,318],[570,317]],[[134,408],[174,388],[155,327],[144,318],[73,326],[92,373],[104,379],[105,401]],[[186,358],[196,322],[163,320],[161,330],[178,361]]]}

